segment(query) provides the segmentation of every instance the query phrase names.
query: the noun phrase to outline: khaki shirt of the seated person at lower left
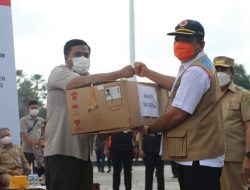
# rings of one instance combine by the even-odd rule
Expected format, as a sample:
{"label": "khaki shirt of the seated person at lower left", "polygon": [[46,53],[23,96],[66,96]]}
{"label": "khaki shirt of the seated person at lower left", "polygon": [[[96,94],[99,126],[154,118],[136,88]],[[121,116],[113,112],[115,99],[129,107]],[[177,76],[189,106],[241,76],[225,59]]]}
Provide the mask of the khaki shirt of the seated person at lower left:
{"label": "khaki shirt of the seated person at lower left", "polygon": [[31,171],[21,148],[15,144],[10,147],[0,145],[0,174],[9,174],[12,170],[20,169],[23,169],[24,174]]}

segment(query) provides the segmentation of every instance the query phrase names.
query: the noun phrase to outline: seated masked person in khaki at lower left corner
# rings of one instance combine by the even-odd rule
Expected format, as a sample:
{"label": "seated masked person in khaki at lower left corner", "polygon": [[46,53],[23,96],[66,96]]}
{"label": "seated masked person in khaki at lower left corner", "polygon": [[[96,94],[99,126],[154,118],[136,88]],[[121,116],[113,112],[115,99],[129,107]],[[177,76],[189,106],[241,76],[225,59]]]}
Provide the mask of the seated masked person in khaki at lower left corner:
{"label": "seated masked person in khaki at lower left corner", "polygon": [[11,176],[28,175],[30,165],[21,147],[11,142],[8,128],[0,128],[0,188],[8,187]]}

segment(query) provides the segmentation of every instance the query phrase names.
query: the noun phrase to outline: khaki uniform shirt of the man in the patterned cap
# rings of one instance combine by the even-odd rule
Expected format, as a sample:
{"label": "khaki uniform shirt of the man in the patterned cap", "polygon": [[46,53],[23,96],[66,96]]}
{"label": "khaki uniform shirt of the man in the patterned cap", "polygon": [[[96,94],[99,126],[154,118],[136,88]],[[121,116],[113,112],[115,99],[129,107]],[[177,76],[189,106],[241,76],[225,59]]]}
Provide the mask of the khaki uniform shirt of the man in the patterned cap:
{"label": "khaki uniform shirt of the man in the patterned cap", "polygon": [[222,97],[225,161],[242,162],[245,153],[245,126],[250,120],[250,92],[233,82]]}

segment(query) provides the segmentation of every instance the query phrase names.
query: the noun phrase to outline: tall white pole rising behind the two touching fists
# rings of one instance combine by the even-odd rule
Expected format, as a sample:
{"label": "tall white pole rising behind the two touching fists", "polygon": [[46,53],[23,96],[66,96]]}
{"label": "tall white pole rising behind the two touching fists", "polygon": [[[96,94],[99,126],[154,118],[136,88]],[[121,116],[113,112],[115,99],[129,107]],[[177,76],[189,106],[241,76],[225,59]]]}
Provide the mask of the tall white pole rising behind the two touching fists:
{"label": "tall white pole rising behind the two touching fists", "polygon": [[[129,0],[129,50],[130,64],[134,67],[135,63],[135,23],[134,23],[134,0]],[[136,76],[132,78],[136,81]]]}

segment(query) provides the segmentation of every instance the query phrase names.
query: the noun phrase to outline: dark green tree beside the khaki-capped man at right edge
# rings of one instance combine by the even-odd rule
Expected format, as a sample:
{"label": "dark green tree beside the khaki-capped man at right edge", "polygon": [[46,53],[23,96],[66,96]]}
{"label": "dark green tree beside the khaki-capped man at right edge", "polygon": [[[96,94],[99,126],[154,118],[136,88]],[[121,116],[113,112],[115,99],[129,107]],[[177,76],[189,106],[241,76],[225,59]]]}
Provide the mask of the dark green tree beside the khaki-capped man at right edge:
{"label": "dark green tree beside the khaki-capped man at right edge", "polygon": [[235,84],[250,90],[250,75],[246,73],[242,64],[236,64],[234,66],[234,82]]}

